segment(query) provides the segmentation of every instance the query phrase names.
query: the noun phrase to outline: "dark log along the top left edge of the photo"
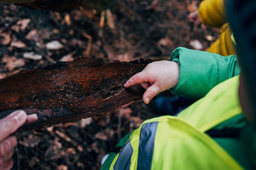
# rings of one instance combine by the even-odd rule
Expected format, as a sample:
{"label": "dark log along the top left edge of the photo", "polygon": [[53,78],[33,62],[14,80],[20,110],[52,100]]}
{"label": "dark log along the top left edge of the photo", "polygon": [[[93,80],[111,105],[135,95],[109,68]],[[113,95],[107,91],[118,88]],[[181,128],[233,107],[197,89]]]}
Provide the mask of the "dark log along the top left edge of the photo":
{"label": "dark log along the top left edge of the photo", "polygon": [[29,6],[40,10],[64,11],[83,6],[95,10],[105,10],[109,0],[0,0],[0,3],[12,3]]}

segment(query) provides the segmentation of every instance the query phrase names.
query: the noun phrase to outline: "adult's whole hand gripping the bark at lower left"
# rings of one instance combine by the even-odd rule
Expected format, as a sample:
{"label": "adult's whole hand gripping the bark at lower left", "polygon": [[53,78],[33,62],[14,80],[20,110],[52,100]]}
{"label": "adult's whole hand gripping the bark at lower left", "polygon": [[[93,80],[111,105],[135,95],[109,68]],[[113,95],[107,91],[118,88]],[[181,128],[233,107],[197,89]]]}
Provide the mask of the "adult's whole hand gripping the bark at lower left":
{"label": "adult's whole hand gripping the bark at lower left", "polygon": [[17,145],[15,136],[10,136],[25,122],[33,122],[37,120],[35,114],[27,117],[22,110],[14,111],[0,120],[0,170],[11,169],[13,166],[13,148]]}

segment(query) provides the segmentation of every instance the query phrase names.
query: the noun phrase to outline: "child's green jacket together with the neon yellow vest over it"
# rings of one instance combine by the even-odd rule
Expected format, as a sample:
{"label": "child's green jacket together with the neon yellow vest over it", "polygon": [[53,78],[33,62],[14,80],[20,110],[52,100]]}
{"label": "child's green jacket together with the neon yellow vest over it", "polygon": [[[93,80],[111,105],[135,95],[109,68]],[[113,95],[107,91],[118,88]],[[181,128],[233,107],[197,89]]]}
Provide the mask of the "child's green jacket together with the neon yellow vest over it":
{"label": "child's green jacket together with the neon yellow vest over it", "polygon": [[[179,47],[170,60],[180,67],[173,94],[199,100],[177,117],[143,122],[116,145],[101,169],[253,169],[256,133],[241,114],[236,56]],[[241,129],[234,134],[243,139],[228,136],[228,129]]]}

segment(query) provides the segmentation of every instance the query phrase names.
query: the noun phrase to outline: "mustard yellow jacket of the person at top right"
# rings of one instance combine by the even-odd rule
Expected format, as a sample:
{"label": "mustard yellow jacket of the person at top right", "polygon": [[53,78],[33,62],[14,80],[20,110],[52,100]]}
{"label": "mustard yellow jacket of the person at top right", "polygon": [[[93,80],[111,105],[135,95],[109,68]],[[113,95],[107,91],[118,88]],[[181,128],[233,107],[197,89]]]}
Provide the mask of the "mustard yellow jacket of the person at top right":
{"label": "mustard yellow jacket of the person at top right", "polygon": [[232,31],[227,22],[224,0],[204,0],[200,3],[198,15],[202,23],[211,27],[221,27],[218,38],[207,52],[219,53],[220,55],[236,55],[234,43],[231,39]]}

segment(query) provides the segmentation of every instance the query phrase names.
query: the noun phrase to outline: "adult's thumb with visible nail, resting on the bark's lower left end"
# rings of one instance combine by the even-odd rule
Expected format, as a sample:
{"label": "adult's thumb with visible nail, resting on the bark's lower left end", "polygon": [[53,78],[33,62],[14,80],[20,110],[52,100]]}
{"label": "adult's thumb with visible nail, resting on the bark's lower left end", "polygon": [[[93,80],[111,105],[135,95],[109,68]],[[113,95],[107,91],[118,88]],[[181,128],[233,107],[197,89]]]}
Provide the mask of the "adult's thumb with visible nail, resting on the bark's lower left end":
{"label": "adult's thumb with visible nail, resting on the bark's lower left end", "polygon": [[14,111],[8,117],[0,120],[0,141],[15,132],[26,122],[27,115],[22,110]]}

